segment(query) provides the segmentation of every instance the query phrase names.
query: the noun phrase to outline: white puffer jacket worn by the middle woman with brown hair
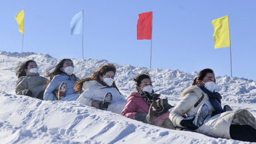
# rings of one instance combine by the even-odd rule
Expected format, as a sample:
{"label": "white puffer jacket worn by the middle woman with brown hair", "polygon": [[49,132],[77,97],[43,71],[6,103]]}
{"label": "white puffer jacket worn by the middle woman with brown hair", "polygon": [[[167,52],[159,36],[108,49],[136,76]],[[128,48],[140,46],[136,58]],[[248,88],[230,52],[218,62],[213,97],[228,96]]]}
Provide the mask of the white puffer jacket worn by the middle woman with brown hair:
{"label": "white puffer jacket worn by the middle woman with brown hair", "polygon": [[92,106],[92,101],[102,101],[105,94],[110,92],[112,94],[112,102],[108,106],[107,111],[121,114],[126,105],[125,97],[116,90],[116,88],[107,88],[95,80],[86,81],[82,84],[82,94],[76,102],[86,106]]}

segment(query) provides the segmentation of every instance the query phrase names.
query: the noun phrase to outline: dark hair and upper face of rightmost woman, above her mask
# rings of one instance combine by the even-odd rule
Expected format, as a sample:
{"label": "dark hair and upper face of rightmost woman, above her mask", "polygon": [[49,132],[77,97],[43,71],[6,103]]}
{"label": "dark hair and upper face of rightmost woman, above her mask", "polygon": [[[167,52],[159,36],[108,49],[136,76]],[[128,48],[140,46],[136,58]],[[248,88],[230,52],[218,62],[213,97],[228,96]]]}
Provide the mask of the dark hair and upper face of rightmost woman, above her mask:
{"label": "dark hair and upper face of rightmost woman, above her mask", "polygon": [[192,85],[195,86],[196,84],[199,84],[201,86],[205,86],[207,82],[216,83],[215,74],[210,68],[201,70],[198,76],[193,80]]}

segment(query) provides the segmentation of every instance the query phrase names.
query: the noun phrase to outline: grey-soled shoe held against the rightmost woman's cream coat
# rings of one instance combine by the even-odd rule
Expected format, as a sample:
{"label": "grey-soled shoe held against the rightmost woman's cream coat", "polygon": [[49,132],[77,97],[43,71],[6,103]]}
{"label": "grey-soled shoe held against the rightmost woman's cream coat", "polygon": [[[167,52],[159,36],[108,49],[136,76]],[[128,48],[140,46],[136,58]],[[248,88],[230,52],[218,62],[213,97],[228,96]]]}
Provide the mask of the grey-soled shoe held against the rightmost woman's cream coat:
{"label": "grey-soled shoe held against the rightmost woman's cream coat", "polygon": [[197,127],[203,125],[205,117],[209,114],[209,108],[206,104],[202,104],[197,111]]}

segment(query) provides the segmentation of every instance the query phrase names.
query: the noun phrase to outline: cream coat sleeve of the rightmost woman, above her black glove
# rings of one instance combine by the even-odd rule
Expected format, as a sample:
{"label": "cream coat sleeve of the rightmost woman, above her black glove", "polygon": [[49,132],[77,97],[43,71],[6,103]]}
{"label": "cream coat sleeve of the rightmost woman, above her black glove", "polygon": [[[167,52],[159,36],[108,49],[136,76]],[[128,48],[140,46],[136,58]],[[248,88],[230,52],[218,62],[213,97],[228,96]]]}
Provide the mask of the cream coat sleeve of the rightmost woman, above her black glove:
{"label": "cream coat sleeve of the rightmost woman, above her black glove", "polygon": [[172,110],[169,117],[174,125],[178,127],[183,127],[182,125],[180,125],[180,122],[185,119],[183,115],[187,113],[194,105],[194,98],[195,97],[190,96],[189,93],[186,94],[186,96],[184,96],[182,100],[177,104],[177,106]]}

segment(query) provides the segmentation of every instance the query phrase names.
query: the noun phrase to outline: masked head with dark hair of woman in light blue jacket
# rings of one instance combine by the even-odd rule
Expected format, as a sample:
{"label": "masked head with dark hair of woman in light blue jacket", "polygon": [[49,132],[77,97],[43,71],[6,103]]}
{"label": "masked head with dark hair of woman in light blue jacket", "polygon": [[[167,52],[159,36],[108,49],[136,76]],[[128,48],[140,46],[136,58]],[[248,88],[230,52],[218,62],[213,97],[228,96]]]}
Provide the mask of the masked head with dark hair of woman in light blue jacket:
{"label": "masked head with dark hair of woman in light blue jacket", "polygon": [[72,60],[68,58],[64,58],[59,62],[55,67],[53,72],[47,72],[47,76],[50,77],[50,81],[53,79],[54,76],[58,74],[68,74],[68,76],[73,75],[74,72],[74,64]]}

